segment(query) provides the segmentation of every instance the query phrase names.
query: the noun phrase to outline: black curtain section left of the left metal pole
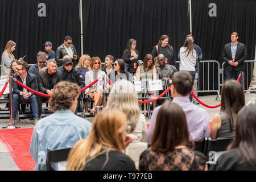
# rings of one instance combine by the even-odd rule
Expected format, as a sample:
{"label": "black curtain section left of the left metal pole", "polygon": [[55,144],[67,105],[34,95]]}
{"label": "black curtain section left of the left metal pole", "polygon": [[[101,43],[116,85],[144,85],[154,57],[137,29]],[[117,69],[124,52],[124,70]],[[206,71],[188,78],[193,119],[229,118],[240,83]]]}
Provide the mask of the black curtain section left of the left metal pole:
{"label": "black curtain section left of the left metal pole", "polygon": [[[39,17],[39,3],[46,4],[46,17]],[[81,52],[79,0],[1,0],[0,50],[13,40],[16,59],[25,57],[28,64],[36,63],[36,53],[44,51],[50,41],[53,51],[63,43],[64,36],[73,38],[77,53]]]}

